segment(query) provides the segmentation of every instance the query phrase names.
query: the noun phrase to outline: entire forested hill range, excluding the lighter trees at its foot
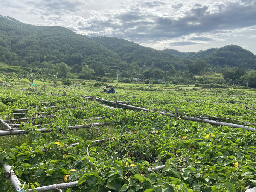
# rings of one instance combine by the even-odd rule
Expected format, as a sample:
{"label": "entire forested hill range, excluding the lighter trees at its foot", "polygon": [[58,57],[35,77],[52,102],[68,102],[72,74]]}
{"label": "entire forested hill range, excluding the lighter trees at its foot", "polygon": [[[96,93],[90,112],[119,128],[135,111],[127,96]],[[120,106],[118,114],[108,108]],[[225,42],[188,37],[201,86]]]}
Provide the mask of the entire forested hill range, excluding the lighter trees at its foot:
{"label": "entire forested hill range, excluding the lighter trees at its foot", "polygon": [[[108,69],[130,70],[134,73],[139,68],[155,67],[164,71],[186,71],[197,59],[207,61],[209,67],[256,69],[256,56],[235,45],[197,53],[173,49],[158,51],[119,38],[88,37],[64,27],[33,26],[0,15],[0,62],[14,66],[56,68],[47,71],[53,73],[59,70],[57,64],[64,62],[69,66],[77,64],[76,72],[81,72],[81,67],[87,65],[96,74],[104,74]],[[194,70],[191,68],[189,71]]]}

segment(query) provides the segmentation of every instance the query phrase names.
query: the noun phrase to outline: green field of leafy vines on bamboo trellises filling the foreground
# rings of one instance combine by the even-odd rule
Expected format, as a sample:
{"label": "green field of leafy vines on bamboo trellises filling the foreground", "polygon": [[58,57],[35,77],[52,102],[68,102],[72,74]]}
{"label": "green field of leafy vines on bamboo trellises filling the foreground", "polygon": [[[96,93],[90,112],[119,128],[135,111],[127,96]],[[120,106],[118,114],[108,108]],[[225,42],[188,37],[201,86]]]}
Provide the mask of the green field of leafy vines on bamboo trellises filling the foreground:
{"label": "green field of leafy vines on bamboo trellises filling the foreground", "polygon": [[15,191],[8,165],[26,182],[25,191],[244,192],[256,186],[255,90],[148,92],[119,85],[115,94],[0,85],[0,118],[14,129],[0,126],[0,191]]}

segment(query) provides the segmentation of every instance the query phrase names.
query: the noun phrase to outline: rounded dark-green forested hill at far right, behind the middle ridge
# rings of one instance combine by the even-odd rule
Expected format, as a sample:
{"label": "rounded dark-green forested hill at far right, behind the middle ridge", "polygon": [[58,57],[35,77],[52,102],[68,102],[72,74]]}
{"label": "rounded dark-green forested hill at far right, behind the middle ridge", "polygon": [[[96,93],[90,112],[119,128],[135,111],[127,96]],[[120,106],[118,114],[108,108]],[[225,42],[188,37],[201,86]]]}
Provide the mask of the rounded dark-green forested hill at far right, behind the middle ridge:
{"label": "rounded dark-green forested hill at far right, behind the middle ridge", "polygon": [[203,59],[213,67],[239,67],[242,69],[256,69],[256,55],[237,45],[227,45],[221,48],[211,48],[199,52],[179,52],[165,49],[172,55],[187,59]]}

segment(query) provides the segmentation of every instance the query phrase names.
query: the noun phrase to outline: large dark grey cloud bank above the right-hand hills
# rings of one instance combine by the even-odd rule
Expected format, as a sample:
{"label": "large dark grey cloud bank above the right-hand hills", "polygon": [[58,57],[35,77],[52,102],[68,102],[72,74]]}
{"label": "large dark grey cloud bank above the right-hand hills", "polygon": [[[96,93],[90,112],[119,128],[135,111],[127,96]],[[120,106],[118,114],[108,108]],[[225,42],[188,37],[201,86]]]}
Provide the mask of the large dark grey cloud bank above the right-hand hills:
{"label": "large dark grey cloud bank above the right-hand hills", "polygon": [[230,31],[256,24],[256,6],[239,2],[229,2],[223,6],[225,11],[211,13],[208,6],[194,7],[186,11],[186,15],[178,18],[128,11],[116,14],[111,21],[93,20],[86,30],[88,33],[103,32],[105,28],[111,27],[111,35],[115,37],[146,43],[149,40],[157,42],[193,33]]}

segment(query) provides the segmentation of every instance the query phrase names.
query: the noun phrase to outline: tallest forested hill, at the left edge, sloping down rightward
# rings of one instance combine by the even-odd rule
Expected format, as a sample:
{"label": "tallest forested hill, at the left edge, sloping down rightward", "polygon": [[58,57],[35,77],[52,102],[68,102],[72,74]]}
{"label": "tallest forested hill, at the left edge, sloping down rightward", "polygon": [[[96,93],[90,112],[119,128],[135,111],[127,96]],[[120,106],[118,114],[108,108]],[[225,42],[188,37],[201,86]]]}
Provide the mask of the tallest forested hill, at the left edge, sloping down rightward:
{"label": "tallest forested hill, at the left edge, sloping down rightward", "polygon": [[[2,56],[4,55],[4,56]],[[100,61],[116,65],[120,57],[106,47],[59,26],[33,26],[0,15],[0,56],[2,62],[65,62],[73,66]],[[15,64],[16,65],[16,64]],[[21,62],[21,65],[26,65]]]}

